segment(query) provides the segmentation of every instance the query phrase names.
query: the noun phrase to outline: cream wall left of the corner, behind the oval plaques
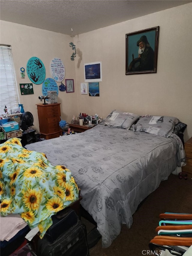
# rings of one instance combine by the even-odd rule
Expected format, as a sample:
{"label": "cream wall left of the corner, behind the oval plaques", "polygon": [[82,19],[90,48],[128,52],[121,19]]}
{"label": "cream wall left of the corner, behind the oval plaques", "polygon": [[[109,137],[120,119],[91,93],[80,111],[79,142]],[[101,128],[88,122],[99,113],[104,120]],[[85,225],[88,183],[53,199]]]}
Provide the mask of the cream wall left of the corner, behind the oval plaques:
{"label": "cream wall left of the corner, behind the oval plaques", "polygon": [[[46,78],[52,78],[50,73],[51,60],[55,57],[60,58],[65,66],[65,79],[74,79],[74,86],[76,87],[75,63],[70,60],[73,51],[69,43],[72,38],[69,35],[62,35],[2,20],[0,35],[1,44],[10,44],[12,46],[20,104],[23,104],[25,111],[32,113],[34,118],[33,128],[39,131],[37,106],[35,104],[42,104],[44,102],[38,99],[38,96],[43,95],[42,84],[36,85],[33,83],[33,95],[21,95],[19,83],[32,82],[29,80],[27,72],[25,72],[25,79],[20,77],[20,68],[24,67],[26,69],[28,60],[33,56],[38,57],[44,63]],[[65,80],[63,80],[63,84],[65,84]],[[61,85],[61,82],[57,83],[57,85]],[[73,114],[78,114],[76,112],[78,110],[76,90],[74,93],[59,91],[58,102],[61,103],[61,118],[70,122]]]}

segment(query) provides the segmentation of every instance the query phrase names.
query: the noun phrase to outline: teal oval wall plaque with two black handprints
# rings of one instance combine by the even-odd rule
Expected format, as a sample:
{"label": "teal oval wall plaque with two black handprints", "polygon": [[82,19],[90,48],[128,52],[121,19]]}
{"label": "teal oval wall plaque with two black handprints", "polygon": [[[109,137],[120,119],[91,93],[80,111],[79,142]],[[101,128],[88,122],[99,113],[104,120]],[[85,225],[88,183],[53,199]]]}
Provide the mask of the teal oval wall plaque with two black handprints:
{"label": "teal oval wall plaque with two black handprints", "polygon": [[41,84],[45,80],[45,66],[41,59],[32,57],[27,62],[27,75],[32,83]]}

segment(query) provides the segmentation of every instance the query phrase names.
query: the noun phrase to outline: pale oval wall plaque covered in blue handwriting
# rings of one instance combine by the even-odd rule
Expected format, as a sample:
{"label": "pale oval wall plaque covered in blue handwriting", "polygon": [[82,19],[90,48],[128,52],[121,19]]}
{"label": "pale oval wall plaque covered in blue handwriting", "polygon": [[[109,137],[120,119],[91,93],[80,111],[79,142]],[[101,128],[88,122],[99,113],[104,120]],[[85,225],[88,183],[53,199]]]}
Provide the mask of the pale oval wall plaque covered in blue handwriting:
{"label": "pale oval wall plaque covered in blue handwriting", "polygon": [[63,81],[65,77],[65,66],[61,59],[58,59],[58,58],[52,59],[51,65],[50,65],[50,71],[51,71],[52,78],[56,82]]}

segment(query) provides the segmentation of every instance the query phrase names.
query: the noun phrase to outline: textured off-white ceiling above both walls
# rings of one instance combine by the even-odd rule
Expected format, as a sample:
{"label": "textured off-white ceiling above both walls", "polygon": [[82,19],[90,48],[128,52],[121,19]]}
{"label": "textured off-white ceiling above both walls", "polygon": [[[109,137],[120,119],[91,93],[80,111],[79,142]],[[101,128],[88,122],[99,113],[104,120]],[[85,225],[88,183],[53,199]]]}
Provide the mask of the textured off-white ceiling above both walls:
{"label": "textured off-white ceiling above both walls", "polygon": [[0,0],[0,19],[66,35],[82,34],[183,5],[184,0]]}

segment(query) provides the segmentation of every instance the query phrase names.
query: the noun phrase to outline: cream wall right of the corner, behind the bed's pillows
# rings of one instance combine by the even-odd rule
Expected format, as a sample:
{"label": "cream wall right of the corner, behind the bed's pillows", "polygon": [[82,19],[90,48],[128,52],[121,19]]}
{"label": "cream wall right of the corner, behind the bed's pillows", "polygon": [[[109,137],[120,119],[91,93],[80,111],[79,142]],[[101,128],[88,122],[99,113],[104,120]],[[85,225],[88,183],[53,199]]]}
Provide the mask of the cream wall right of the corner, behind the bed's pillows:
{"label": "cream wall right of the corner, behind the bed's pillows", "polygon": [[[113,109],[136,114],[176,116],[192,136],[192,4],[139,17],[81,34],[74,44],[82,52],[77,86],[84,82],[83,63],[102,62],[100,97],[81,95],[79,112],[107,116]],[[160,26],[157,73],[125,75],[125,34]]]}

